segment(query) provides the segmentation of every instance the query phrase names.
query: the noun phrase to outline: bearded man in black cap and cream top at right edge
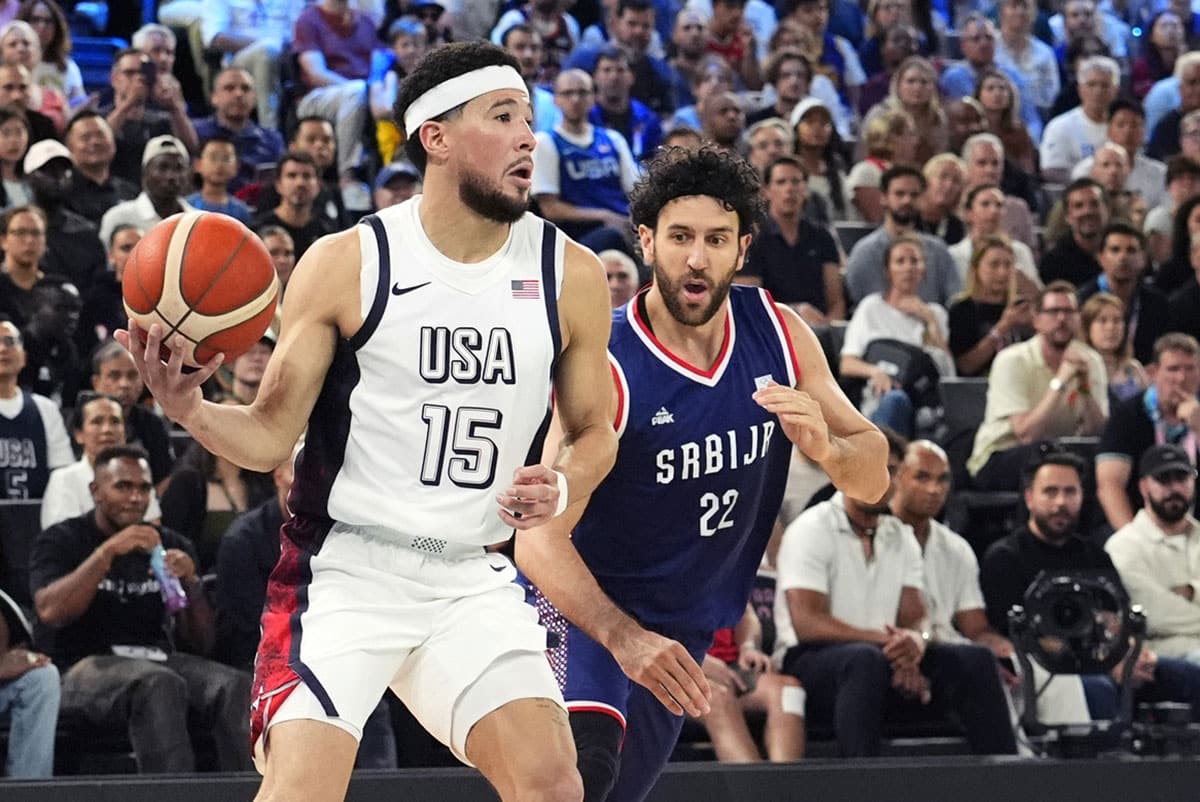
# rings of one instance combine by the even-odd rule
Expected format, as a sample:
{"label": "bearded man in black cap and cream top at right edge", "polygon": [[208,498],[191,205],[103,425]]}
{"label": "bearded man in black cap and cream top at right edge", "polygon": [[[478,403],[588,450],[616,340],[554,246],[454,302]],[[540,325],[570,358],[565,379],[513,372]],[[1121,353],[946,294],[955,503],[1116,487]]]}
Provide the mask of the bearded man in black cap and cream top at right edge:
{"label": "bearded man in black cap and cream top at right edge", "polygon": [[1146,645],[1200,663],[1200,521],[1196,469],[1178,445],[1151,445],[1138,461],[1146,505],[1104,544],[1129,600],[1146,614]]}

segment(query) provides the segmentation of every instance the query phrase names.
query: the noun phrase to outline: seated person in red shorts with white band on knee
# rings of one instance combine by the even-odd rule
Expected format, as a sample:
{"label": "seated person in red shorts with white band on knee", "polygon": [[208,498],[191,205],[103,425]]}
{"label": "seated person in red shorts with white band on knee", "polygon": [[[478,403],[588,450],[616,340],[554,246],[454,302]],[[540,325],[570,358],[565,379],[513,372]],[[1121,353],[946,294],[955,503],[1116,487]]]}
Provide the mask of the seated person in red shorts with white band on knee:
{"label": "seated person in red shorts with white band on knee", "polygon": [[712,711],[700,719],[722,764],[758,762],[745,714],[767,713],[762,740],[767,760],[804,756],[804,689],[796,677],[779,674],[762,652],[762,624],[746,605],[737,627],[720,629],[701,665],[713,689]]}

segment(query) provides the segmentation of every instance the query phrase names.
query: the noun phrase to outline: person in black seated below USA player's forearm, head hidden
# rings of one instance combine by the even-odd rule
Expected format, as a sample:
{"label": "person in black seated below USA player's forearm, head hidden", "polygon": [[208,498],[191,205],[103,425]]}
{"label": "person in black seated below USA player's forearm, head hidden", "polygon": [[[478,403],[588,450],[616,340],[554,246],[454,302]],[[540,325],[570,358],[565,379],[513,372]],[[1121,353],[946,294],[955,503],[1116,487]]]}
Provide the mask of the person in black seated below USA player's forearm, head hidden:
{"label": "person in black seated below USA player's forearm, head hidden", "polygon": [[270,473],[247,471],[192,443],[162,493],[162,522],[192,540],[200,558],[199,570],[208,573],[216,564],[221,538],[233,520],[274,493]]}

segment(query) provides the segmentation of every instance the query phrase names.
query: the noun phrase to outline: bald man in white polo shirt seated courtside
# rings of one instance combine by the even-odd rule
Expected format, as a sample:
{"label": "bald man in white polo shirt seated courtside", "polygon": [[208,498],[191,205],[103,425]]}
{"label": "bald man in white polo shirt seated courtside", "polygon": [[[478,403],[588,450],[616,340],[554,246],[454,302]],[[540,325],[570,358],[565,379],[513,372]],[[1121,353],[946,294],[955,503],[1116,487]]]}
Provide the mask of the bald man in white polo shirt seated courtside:
{"label": "bald man in white polo shirt seated courtside", "polygon": [[[978,644],[991,650],[1003,666],[1010,698],[1018,678],[1013,644],[988,623],[979,587],[979,561],[971,545],[934,516],[942,511],[950,491],[950,462],[946,451],[930,441],[914,441],[905,451],[896,473],[892,514],[912,527],[925,565],[925,621],[922,630],[937,644]],[[1045,724],[1090,720],[1084,684],[1078,677],[1052,677],[1033,664],[1038,694],[1038,719]]]}

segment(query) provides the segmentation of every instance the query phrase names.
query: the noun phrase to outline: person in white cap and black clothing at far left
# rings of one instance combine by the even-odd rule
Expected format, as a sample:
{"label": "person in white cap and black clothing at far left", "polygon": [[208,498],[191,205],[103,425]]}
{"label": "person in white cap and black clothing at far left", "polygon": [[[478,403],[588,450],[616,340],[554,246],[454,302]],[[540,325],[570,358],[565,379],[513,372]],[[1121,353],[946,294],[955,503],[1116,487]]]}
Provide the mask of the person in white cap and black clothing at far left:
{"label": "person in white cap and black clothing at far left", "polygon": [[85,293],[108,265],[100,227],[66,207],[74,173],[71,151],[56,139],[42,139],[25,154],[24,167],[34,203],[46,213],[42,269],[66,276]]}

